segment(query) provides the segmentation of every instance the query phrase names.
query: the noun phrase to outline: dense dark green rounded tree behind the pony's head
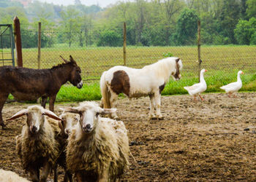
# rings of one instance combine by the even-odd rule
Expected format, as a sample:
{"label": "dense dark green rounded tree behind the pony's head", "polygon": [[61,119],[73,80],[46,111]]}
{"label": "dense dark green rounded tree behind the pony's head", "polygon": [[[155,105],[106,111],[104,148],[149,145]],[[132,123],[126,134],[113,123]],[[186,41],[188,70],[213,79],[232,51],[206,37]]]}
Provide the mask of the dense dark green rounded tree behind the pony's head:
{"label": "dense dark green rounded tree behind the pony's head", "polygon": [[184,9],[178,17],[173,41],[177,45],[195,44],[198,16],[193,9]]}

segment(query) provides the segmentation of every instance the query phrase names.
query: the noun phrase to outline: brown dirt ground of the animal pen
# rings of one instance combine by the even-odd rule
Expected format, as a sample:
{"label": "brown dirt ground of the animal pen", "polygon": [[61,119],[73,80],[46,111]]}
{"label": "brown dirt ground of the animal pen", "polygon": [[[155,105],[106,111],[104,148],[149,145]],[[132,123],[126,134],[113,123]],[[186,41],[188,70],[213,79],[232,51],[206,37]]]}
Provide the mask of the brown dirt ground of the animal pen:
{"label": "brown dirt ground of the animal pen", "polygon": [[[124,181],[256,181],[256,93],[162,96],[165,120],[148,120],[149,99],[117,101],[118,116],[129,130],[129,170]],[[31,104],[9,103],[4,120]],[[57,103],[59,107],[78,103]],[[23,118],[24,119],[24,118]],[[23,119],[0,130],[0,168],[29,179],[15,152]],[[63,171],[60,173],[63,173]],[[52,179],[52,178],[51,178]],[[51,181],[49,178],[49,180]]]}

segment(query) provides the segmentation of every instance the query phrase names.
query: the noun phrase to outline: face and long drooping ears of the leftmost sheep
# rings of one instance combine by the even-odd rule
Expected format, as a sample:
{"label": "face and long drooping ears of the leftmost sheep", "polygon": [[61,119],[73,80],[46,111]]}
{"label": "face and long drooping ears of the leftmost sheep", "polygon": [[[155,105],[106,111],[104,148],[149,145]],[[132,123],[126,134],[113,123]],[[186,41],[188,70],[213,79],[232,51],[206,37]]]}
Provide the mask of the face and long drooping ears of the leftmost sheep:
{"label": "face and long drooping ears of the leftmost sheep", "polygon": [[12,120],[16,119],[20,116],[27,116],[26,124],[29,127],[29,131],[31,133],[37,133],[40,128],[43,126],[45,122],[45,116],[49,116],[50,118],[61,120],[56,114],[54,114],[52,111],[48,111],[45,108],[42,108],[41,106],[29,106],[26,109],[23,109],[21,111],[18,111],[18,113],[14,114],[10,119]]}

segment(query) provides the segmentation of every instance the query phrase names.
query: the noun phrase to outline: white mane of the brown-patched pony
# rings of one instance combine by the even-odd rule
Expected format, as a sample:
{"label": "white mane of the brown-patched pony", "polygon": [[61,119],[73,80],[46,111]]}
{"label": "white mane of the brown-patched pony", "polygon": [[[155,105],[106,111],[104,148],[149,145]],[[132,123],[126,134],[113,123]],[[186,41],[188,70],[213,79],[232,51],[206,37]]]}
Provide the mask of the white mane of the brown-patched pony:
{"label": "white mane of the brown-patched pony", "polygon": [[[168,82],[170,79],[170,74],[172,72],[176,72],[176,59],[178,58],[164,58],[162,60],[158,60],[156,63],[144,66],[143,69],[154,71],[157,77],[163,78],[165,79],[165,82]],[[178,66],[180,69],[182,68],[181,60],[178,61]]]}

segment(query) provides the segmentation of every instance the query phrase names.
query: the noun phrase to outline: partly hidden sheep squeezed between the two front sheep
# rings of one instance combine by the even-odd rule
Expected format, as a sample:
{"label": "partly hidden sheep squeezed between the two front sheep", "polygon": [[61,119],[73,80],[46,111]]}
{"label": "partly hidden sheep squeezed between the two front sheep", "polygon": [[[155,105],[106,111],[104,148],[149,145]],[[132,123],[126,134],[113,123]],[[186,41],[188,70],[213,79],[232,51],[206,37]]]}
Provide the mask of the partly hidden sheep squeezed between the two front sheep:
{"label": "partly hidden sheep squeezed between the two front sheep", "polygon": [[[72,182],[72,173],[67,170],[66,165],[66,147],[69,133],[72,130],[72,127],[78,122],[79,115],[63,112],[59,117],[62,119],[58,122],[59,127],[56,127],[56,121],[53,119],[48,119],[48,122],[52,125],[56,135],[56,141],[59,143],[59,157],[57,159],[57,164],[65,170],[64,181],[68,181],[69,179],[69,181]],[[57,166],[54,169],[54,181],[58,181]]]}

